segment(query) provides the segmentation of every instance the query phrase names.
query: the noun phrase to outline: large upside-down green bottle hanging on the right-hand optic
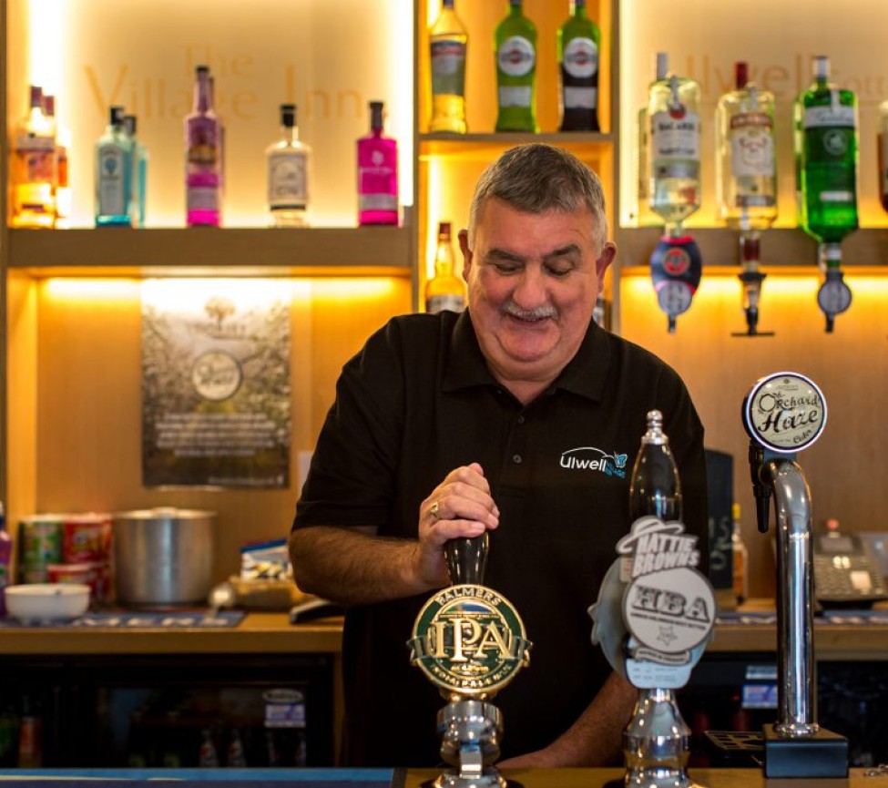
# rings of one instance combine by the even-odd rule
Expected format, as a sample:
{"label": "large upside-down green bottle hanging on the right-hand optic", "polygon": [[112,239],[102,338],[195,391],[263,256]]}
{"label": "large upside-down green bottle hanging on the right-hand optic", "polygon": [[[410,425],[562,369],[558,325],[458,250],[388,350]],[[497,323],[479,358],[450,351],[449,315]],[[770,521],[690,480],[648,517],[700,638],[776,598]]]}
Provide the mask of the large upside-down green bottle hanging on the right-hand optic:
{"label": "large upside-down green bottle hanging on the right-hand optic", "polygon": [[830,83],[829,57],[813,58],[813,75],[793,107],[799,224],[839,243],[857,229],[857,97]]}

